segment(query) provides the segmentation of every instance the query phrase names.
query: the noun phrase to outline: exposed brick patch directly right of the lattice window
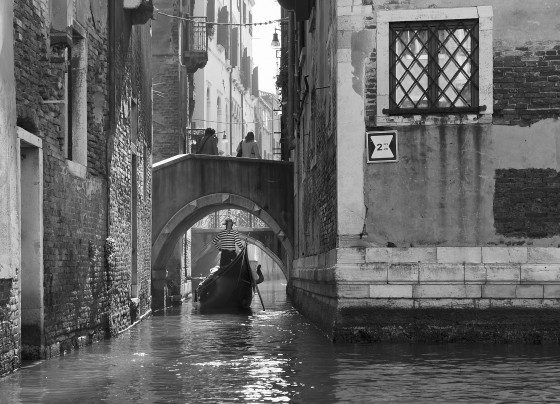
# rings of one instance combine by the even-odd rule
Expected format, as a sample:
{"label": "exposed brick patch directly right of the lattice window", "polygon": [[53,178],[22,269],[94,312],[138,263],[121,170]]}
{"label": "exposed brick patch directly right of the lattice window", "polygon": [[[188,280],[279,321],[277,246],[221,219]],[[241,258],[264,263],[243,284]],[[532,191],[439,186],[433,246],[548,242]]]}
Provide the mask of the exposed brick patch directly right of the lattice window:
{"label": "exposed brick patch directly right of the lattice window", "polygon": [[494,43],[494,116],[530,125],[560,115],[560,41]]}

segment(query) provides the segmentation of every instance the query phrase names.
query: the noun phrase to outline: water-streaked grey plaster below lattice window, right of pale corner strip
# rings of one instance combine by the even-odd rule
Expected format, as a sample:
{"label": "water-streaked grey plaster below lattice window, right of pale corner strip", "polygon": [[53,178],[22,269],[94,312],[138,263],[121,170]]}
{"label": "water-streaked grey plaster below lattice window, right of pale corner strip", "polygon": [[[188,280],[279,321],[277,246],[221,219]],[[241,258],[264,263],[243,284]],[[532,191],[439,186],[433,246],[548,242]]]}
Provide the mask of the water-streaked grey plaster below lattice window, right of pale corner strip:
{"label": "water-streaked grey plaster below lattice window, right of pale corner strip", "polygon": [[[556,120],[528,128],[438,125],[398,130],[400,161],[365,169],[368,242],[399,247],[523,243],[495,228],[495,173],[527,168],[558,171]],[[558,235],[525,240],[554,247],[559,241]]]}

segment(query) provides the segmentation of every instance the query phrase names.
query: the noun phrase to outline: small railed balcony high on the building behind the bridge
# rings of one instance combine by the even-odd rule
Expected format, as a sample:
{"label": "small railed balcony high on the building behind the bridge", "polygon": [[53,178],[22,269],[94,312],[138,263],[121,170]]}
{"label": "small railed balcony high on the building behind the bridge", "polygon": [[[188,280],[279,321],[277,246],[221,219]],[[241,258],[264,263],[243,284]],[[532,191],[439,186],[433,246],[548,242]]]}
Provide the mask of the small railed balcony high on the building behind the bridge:
{"label": "small railed balcony high on the building behind the bridge", "polygon": [[189,73],[194,73],[208,62],[208,25],[211,24],[206,17],[187,18],[183,21],[183,65]]}

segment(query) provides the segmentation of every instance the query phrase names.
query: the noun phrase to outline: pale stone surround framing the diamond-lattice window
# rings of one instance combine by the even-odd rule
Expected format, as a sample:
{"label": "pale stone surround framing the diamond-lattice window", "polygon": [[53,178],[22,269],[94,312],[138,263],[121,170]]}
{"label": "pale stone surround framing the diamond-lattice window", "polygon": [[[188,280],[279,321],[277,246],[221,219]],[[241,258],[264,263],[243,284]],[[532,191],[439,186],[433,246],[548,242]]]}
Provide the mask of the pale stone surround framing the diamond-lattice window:
{"label": "pale stone surround framing the diamond-lattice window", "polygon": [[[493,113],[493,51],[491,6],[433,8],[415,10],[380,10],[377,12],[377,125],[412,124],[418,116],[424,122],[436,121],[442,114],[461,115],[460,122],[491,120]],[[468,108],[391,107],[391,35],[390,24],[399,22],[435,22],[446,20],[478,20],[478,105]],[[464,115],[467,119],[464,119]]]}

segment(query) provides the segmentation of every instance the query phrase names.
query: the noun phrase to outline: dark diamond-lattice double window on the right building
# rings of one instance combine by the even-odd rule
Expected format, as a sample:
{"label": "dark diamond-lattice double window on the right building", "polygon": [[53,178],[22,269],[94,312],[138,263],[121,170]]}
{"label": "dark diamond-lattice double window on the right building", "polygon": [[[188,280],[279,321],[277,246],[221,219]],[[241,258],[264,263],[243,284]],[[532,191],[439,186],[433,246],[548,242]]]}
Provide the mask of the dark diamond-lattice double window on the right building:
{"label": "dark diamond-lattice double window on the right building", "polygon": [[478,111],[478,20],[396,22],[389,114]]}

